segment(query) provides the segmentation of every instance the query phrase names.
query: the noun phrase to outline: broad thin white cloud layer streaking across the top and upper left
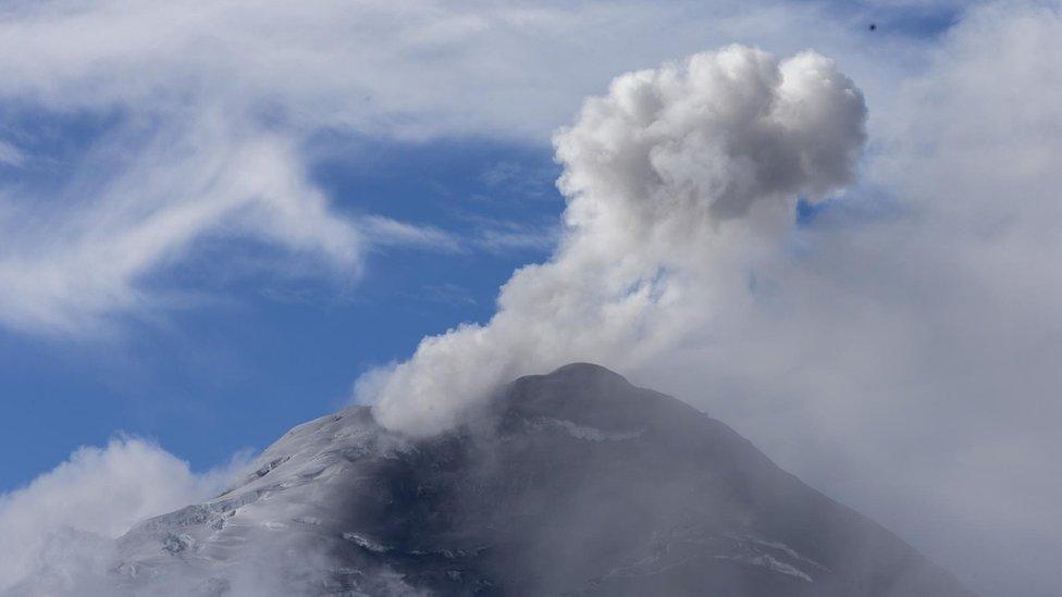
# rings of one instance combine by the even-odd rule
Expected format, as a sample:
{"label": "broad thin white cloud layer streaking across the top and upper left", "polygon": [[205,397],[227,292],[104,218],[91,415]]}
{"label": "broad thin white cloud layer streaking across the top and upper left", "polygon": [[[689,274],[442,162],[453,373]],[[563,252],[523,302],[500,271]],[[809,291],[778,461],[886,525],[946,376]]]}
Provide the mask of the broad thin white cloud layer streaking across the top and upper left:
{"label": "broad thin white cloud layer streaking across the top and upper left", "polygon": [[[775,2],[8,3],[0,12],[5,124],[17,127],[27,105],[35,119],[106,114],[113,124],[73,158],[61,197],[38,197],[54,189],[34,185],[0,191],[0,324],[78,334],[157,311],[148,279],[207,237],[248,236],[348,279],[375,245],[542,248],[548,240],[526,228],[457,239],[432,225],[345,214],[306,175],[305,146],[322,130],[541,144],[610,75],[713,39],[767,36],[781,50],[816,40],[854,47],[859,36],[844,22],[824,22],[826,10]],[[793,36],[793,23],[817,37]],[[653,34],[664,28],[667,39]],[[910,53],[898,48],[893,58]],[[14,146],[0,146],[0,162],[23,159]],[[523,184],[504,167],[495,174],[497,185]]]}

